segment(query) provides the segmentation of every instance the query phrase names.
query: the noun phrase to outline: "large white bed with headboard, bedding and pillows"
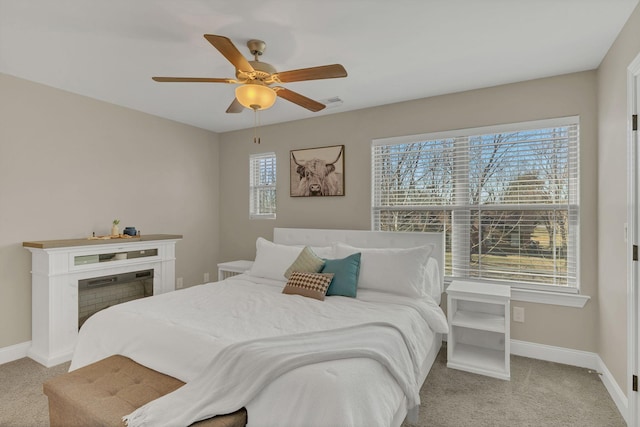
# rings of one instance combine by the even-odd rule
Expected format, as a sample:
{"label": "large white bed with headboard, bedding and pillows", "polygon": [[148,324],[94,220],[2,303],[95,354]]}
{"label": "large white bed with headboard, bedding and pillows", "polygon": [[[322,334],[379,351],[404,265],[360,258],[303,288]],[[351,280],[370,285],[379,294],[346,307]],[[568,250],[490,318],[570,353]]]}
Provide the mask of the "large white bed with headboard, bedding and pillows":
{"label": "large white bed with headboard, bedding and pillows", "polygon": [[[333,274],[298,272],[310,268],[300,264],[303,252],[309,250],[311,256],[326,262],[325,269],[329,264],[335,267],[331,286],[338,277],[353,279],[353,269],[347,269],[351,276],[345,276],[341,268],[345,260],[358,258],[355,296],[345,295],[353,291],[348,286],[328,293],[323,300],[305,295],[306,290],[297,292],[293,277],[306,275],[315,280]],[[250,427],[399,426],[405,418],[417,415],[417,393],[440,349],[442,334],[447,332],[446,318],[438,306],[443,260],[440,233],[276,228],[273,241],[258,238],[255,263],[246,273],[93,315],[79,332],[70,370],[121,354],[178,378],[187,383],[187,391],[170,393],[161,398],[166,401],[158,399],[145,405],[150,406],[145,410],[159,409],[157,416],[162,420],[180,412],[183,418],[177,418],[174,425],[188,425],[204,415],[226,413],[206,412],[213,407],[220,410],[207,400],[211,400],[207,395],[212,389],[207,381],[229,383],[234,377],[216,375],[237,369],[229,365],[237,360],[252,369],[259,367],[249,384],[223,391],[225,398],[238,394],[235,409],[247,409]],[[291,267],[296,268],[288,271]],[[287,272],[289,279],[283,276]],[[287,288],[293,291],[283,292]],[[388,342],[381,338],[385,334]],[[325,351],[333,349],[335,343],[327,343],[337,336],[346,337],[335,345],[340,349]],[[402,339],[399,342],[404,345],[392,344],[392,339]],[[352,348],[343,349],[342,343]],[[299,355],[296,345],[310,351]],[[373,349],[375,346],[386,348]],[[298,364],[282,370],[282,365],[294,359],[277,352],[290,348]],[[402,354],[386,353],[396,350]],[[271,354],[272,359],[265,359],[269,361],[242,362],[244,353],[265,351]],[[227,365],[220,365],[218,359],[224,357]],[[298,362],[303,359],[305,363]],[[270,370],[285,360],[281,370]],[[400,365],[404,367],[398,368]],[[218,369],[220,366],[225,369]],[[247,389],[255,390],[247,396]],[[175,402],[180,402],[180,409],[174,411],[171,405],[178,405]],[[192,404],[198,407],[185,409]],[[129,422],[137,425],[134,417]]]}

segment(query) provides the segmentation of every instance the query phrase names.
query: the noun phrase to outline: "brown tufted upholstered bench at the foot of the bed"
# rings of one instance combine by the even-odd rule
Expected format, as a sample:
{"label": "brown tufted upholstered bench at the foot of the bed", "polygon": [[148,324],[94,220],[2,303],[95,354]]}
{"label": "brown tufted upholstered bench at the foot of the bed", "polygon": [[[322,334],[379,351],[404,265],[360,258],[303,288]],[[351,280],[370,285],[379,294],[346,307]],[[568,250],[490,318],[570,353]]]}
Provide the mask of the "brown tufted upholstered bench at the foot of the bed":
{"label": "brown tufted upholstered bench at the foot of the bed", "polygon": [[[122,417],[184,383],[115,355],[44,383],[51,427],[124,426]],[[197,427],[242,427],[247,411],[198,421]]]}

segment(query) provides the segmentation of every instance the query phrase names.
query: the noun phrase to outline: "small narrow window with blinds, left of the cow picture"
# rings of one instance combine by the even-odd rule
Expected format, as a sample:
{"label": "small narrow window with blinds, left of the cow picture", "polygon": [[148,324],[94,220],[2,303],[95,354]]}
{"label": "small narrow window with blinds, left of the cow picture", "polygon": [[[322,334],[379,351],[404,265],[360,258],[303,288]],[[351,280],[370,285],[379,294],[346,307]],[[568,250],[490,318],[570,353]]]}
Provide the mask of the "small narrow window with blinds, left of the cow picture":
{"label": "small narrow window with blinds, left of the cow picture", "polygon": [[276,217],[276,154],[249,157],[249,216],[251,219]]}

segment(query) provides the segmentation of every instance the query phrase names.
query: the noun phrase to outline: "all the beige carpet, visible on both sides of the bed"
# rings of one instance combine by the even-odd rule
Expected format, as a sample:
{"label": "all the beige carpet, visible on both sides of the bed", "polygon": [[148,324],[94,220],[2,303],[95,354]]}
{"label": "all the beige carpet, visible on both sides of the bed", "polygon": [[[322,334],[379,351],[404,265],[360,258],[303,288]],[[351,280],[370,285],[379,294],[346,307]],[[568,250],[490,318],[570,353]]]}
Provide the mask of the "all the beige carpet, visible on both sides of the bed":
{"label": "all the beige carpet, visible on both sides of the bed", "polygon": [[[47,369],[27,358],[0,365],[0,426],[48,426],[42,383],[68,366]],[[420,396],[420,427],[626,425],[597,374],[518,356],[511,381],[502,381],[448,369],[443,346]]]}

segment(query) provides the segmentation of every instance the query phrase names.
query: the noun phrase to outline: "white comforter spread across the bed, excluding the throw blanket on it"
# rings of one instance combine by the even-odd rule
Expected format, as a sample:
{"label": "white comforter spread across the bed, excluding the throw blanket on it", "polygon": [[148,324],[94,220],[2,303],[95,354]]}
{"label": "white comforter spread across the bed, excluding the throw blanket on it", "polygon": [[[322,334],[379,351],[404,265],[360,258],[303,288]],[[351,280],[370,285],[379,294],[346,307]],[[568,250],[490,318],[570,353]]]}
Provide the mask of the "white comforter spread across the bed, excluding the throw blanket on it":
{"label": "white comforter spread across the bed, excluding the throw blanket on it", "polygon": [[[317,301],[281,293],[283,283],[241,275],[223,282],[120,304],[82,327],[71,370],[122,354],[190,382],[232,343],[387,322],[402,330],[419,360],[446,319],[430,298],[376,292]],[[433,332],[432,332],[433,331]],[[248,426],[387,426],[404,399],[389,371],[365,358],[321,362],[287,372],[248,404]]]}

